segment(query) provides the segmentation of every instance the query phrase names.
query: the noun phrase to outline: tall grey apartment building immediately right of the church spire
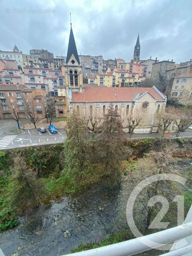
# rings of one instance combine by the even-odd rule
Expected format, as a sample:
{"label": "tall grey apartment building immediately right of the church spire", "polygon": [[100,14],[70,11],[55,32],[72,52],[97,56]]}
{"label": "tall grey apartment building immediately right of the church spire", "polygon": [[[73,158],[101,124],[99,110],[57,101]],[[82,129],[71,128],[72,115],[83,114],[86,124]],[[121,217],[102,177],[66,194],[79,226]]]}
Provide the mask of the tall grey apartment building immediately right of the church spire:
{"label": "tall grey apartment building immediately right of the church spire", "polygon": [[103,56],[79,55],[82,65],[83,78],[97,76],[102,72]]}

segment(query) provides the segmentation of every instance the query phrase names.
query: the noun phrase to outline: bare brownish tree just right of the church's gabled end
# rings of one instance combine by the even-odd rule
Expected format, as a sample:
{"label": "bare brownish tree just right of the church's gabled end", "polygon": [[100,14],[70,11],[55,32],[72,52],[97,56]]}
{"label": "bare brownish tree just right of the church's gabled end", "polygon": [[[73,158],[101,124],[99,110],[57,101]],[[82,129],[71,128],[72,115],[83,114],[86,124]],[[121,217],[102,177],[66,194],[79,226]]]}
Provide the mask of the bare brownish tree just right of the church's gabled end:
{"label": "bare brownish tree just right of the church's gabled end", "polygon": [[158,126],[158,132],[162,133],[162,138],[165,134],[165,131],[167,128],[173,123],[175,116],[175,107],[173,106],[167,106],[164,109],[162,108],[158,113],[156,113],[156,118],[159,121],[159,126]]}

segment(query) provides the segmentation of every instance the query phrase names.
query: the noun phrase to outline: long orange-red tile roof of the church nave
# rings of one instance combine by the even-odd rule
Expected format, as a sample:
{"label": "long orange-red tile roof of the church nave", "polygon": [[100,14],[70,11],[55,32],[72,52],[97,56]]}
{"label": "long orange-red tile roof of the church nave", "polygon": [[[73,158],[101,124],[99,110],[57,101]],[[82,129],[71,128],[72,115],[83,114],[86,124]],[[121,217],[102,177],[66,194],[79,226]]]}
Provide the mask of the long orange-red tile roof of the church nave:
{"label": "long orange-red tile roof of the church nave", "polygon": [[149,92],[157,101],[165,101],[161,92],[155,87],[85,87],[84,92],[73,92],[73,102],[115,102],[134,101],[139,94]]}

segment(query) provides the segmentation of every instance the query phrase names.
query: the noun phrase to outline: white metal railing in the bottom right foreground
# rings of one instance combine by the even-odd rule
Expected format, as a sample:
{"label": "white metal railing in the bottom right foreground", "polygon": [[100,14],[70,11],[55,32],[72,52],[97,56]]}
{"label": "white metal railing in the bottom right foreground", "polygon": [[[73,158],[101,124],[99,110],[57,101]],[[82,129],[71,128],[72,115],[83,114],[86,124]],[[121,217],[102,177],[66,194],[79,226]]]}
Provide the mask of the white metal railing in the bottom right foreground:
{"label": "white metal railing in the bottom right foreground", "polygon": [[[117,244],[111,244],[100,248],[66,254],[70,256],[130,256],[140,252],[149,251],[159,247],[158,244],[170,244],[179,239],[192,235],[192,222],[180,226],[169,228],[147,236],[141,236],[135,239],[124,241]],[[147,241],[147,243],[146,243]],[[146,245],[147,244],[147,245]],[[162,254],[162,256],[180,256],[192,252],[192,245],[188,245],[171,252]],[[66,256],[65,255],[65,256]],[[64,255],[63,255],[64,256]]]}

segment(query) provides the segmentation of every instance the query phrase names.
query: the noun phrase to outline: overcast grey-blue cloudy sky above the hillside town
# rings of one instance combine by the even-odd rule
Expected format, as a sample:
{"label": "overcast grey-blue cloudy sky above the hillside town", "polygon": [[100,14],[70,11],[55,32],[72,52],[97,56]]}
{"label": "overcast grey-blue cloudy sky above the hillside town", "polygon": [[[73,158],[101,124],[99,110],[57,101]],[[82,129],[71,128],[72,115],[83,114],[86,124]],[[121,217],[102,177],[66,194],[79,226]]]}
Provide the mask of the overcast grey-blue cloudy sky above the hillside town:
{"label": "overcast grey-blue cloudy sky above the hillside town", "polygon": [[140,59],[192,58],[192,0],[0,0],[0,50],[67,55],[69,12],[78,54],[130,61],[139,31]]}

